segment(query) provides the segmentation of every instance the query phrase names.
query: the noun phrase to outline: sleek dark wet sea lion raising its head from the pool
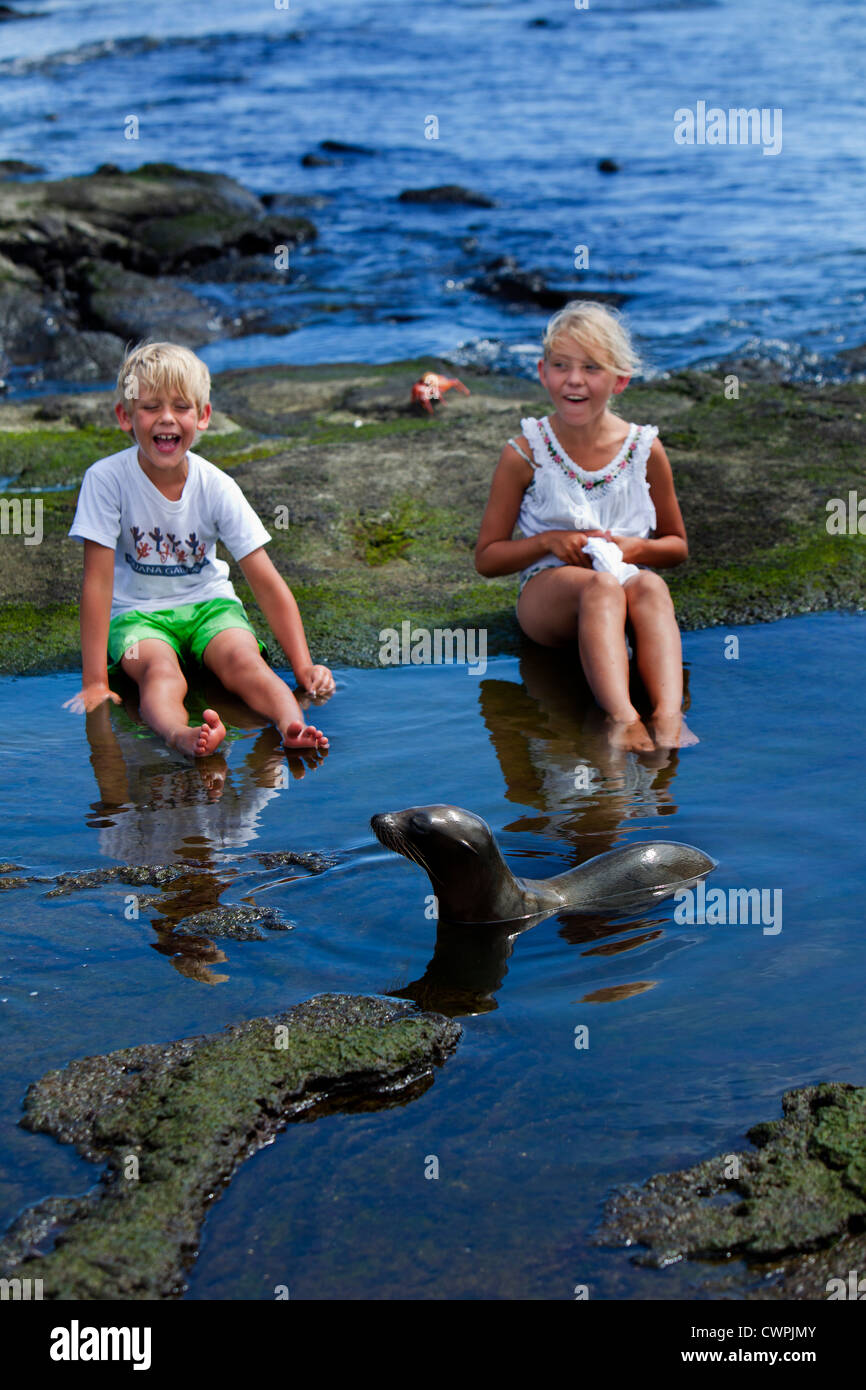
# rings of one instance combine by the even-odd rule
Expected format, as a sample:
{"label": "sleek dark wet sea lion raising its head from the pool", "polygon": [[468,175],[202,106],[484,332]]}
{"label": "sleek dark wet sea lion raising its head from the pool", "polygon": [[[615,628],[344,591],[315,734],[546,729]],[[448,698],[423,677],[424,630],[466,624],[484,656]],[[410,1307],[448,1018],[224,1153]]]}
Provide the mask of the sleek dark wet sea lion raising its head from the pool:
{"label": "sleek dark wet sea lion raising its head from the pool", "polygon": [[466,926],[562,910],[637,910],[691,887],[717,865],[694,845],[649,840],[553,878],[517,878],[487,821],[460,806],[410,806],[374,816],[370,824],[379,844],[430,874],[439,920]]}

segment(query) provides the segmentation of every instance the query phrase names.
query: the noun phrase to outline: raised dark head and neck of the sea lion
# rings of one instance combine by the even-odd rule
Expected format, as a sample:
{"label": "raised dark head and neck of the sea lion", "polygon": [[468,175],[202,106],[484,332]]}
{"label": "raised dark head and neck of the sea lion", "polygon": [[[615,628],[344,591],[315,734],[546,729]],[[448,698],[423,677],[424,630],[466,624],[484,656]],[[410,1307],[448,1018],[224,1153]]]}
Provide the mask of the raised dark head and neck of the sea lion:
{"label": "raised dark head and neck of the sea lion", "polygon": [[410,806],[374,816],[386,849],[430,874],[442,922],[506,922],[525,915],[523,894],[491,827],[460,806]]}

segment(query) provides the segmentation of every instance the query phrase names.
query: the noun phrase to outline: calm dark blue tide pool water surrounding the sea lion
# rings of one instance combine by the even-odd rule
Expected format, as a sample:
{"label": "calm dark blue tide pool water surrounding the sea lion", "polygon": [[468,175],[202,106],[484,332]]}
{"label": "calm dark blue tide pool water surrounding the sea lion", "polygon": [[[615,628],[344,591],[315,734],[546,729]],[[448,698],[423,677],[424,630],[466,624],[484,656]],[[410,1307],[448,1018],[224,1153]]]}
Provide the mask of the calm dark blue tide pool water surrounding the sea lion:
{"label": "calm dark blue tide pool water surrounding the sea lion", "polygon": [[[702,1297],[695,1266],[639,1270],[591,1236],[616,1184],[744,1147],[785,1088],[866,1083],[863,623],[735,628],[737,660],[728,630],[685,634],[702,742],[670,759],[605,753],[595,713],[544,656],[498,659],[481,678],[339,671],[317,719],[331,755],[302,778],[284,776],[270,731],[228,710],[221,796],[125,712],[89,748],[60,709],[74,676],[0,681],[3,858],[44,874],[197,866],[185,892],[145,890],[160,902],[138,920],[122,884],[3,895],[0,1223],[95,1177],[17,1127],[44,1070],[321,991],[402,992],[461,1017],[456,1055],[411,1104],[291,1126],[250,1159],[207,1219],[188,1297],[272,1298],[286,1284],[292,1298],[556,1300],[577,1283],[594,1298]],[[666,902],[631,919],[550,917],[510,955],[471,942],[467,962],[452,942],[431,972],[430,883],[368,830],[374,812],[431,801],[482,815],[530,877],[614,844],[699,845],[720,862],[714,885],[781,890],[783,929],[680,926]],[[253,855],[272,849],[335,863],[268,870]],[[196,956],[152,926],[250,892],[295,929]],[[438,1180],[424,1177],[430,1156]]]}

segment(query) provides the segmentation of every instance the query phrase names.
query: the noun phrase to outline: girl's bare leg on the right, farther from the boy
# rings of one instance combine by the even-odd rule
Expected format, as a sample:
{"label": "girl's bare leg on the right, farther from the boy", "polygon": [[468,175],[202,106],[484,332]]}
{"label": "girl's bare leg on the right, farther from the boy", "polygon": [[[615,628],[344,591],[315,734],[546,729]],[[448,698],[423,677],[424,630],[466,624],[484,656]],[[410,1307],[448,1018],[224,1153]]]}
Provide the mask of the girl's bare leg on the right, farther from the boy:
{"label": "girl's bare leg on the right, farther from the boy", "polygon": [[660,748],[698,739],[683,719],[683,639],[673,599],[660,574],[641,570],[623,587],[634,628],[641,680],[652,702],[652,733]]}

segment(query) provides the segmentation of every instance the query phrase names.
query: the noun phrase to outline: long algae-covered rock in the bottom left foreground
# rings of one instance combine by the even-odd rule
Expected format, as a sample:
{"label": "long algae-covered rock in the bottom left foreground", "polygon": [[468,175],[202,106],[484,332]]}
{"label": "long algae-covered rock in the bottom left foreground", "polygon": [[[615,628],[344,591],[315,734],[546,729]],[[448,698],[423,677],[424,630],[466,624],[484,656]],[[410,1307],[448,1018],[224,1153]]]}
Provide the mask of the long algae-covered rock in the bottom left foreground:
{"label": "long algae-covered rock in the bottom left foreground", "polygon": [[460,1031],[402,1001],[321,994],[222,1033],[49,1072],[21,1123],[107,1170],[83,1197],[25,1212],[0,1240],[0,1275],[42,1279],[50,1300],[179,1295],[204,1215],[246,1158],[299,1116],[421,1094]]}

